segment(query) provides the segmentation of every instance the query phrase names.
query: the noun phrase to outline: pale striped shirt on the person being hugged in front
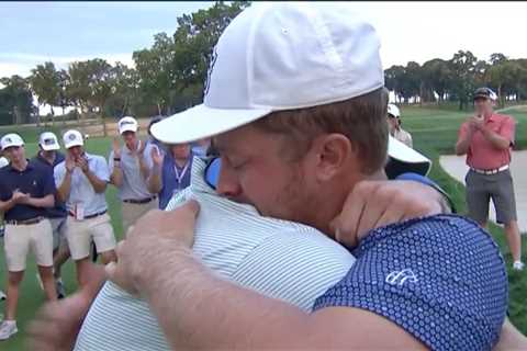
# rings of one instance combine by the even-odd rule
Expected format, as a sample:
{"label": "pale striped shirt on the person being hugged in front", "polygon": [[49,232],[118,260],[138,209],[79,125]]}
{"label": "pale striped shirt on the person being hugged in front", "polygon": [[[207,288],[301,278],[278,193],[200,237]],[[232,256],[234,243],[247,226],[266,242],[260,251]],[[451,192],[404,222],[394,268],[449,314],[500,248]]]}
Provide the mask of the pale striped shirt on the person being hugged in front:
{"label": "pale striped shirt on the person being hugged in front", "polygon": [[[192,181],[168,204],[200,203],[193,250],[220,275],[310,312],[316,297],[355,262],[341,246],[314,228],[262,217],[255,207],[217,196],[194,158]],[[83,321],[76,350],[169,350],[145,301],[106,283]]]}

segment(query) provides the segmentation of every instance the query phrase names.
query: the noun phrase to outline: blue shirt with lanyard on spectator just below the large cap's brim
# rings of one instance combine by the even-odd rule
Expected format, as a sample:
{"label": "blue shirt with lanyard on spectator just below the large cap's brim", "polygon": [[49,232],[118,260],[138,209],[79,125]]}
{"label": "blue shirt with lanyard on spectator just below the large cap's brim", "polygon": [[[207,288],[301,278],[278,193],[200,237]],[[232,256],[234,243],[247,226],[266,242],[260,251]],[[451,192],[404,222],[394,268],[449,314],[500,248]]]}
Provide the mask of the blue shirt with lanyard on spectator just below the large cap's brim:
{"label": "blue shirt with lanyard on spectator just below the large cap's brim", "polygon": [[176,165],[171,152],[167,152],[162,160],[161,180],[162,188],[159,192],[159,208],[165,210],[172,196],[190,185],[190,176],[192,169],[193,155],[189,155],[189,160],[183,167]]}

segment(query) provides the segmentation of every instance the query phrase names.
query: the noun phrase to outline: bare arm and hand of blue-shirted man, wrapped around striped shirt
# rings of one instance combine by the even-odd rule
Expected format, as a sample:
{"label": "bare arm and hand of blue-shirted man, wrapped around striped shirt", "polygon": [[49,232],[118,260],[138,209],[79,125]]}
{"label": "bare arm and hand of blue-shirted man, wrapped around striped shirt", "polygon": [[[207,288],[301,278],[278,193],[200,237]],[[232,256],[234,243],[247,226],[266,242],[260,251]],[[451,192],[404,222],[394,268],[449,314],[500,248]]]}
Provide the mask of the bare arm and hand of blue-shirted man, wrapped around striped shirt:
{"label": "bare arm and hand of blue-shirted man, wrapped around striped shirt", "polygon": [[[188,249],[197,211],[191,202],[173,212],[149,212],[117,249],[119,265],[106,265],[112,280],[146,297],[173,348],[424,349],[372,313],[336,307],[309,315],[216,278]],[[146,253],[156,258],[153,264],[133,262]]]}

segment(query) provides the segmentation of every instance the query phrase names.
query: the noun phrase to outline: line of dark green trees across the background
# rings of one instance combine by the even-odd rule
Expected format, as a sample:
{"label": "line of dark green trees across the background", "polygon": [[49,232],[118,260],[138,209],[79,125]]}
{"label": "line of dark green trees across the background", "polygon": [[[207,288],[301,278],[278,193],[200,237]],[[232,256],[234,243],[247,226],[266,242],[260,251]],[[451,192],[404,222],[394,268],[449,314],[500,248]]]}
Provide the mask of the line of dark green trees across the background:
{"label": "line of dark green trees across the background", "polygon": [[[52,123],[57,120],[54,106],[58,106],[63,121],[101,118],[104,134],[106,116],[169,115],[192,106],[202,101],[214,44],[247,5],[248,1],[217,1],[206,10],[181,15],[172,35],[158,33],[150,48],[133,53],[134,67],[93,58],[57,69],[47,61],[29,77],[0,78],[0,124],[40,124],[33,95],[40,105],[52,106],[47,117]],[[509,59],[500,53],[481,60],[469,50],[459,50],[449,60],[410,61],[384,72],[386,88],[399,103],[453,101],[464,109],[479,86],[493,88],[501,104],[527,97],[527,59]],[[66,114],[67,107],[76,109]]]}

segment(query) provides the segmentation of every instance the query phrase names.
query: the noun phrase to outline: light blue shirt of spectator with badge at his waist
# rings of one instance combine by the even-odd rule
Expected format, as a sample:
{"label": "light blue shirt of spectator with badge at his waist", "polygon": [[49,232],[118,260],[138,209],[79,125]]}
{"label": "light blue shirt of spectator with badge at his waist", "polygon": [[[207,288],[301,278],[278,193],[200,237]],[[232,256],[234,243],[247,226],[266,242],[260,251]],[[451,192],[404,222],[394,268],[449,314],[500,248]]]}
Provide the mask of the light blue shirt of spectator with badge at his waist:
{"label": "light blue shirt of spectator with badge at his waist", "polygon": [[[102,181],[110,181],[110,171],[108,169],[106,160],[99,155],[89,155],[85,152],[88,159],[88,167],[93,174]],[[66,163],[63,161],[54,169],[55,184],[60,186],[66,177]],[[71,186],[69,196],[66,200],[66,208],[69,212],[75,212],[75,205],[80,204],[85,210],[85,216],[94,215],[108,210],[106,199],[104,192],[96,193],[88,177],[78,167],[71,173]]]}

